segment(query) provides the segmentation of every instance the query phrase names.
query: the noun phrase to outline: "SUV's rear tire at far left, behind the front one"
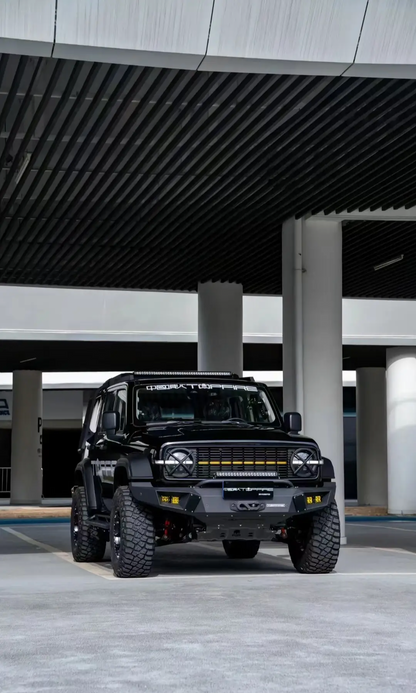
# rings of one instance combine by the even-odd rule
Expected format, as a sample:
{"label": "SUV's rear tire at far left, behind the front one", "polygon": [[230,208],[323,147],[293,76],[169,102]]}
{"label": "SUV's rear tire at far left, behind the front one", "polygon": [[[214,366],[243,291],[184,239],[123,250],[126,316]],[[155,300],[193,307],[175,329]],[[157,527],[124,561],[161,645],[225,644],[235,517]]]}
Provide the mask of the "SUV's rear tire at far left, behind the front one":
{"label": "SUV's rear tire at far left, behind the front one", "polygon": [[102,561],[105,554],[106,532],[98,527],[91,527],[87,522],[85,489],[78,486],[73,492],[71,507],[71,547],[77,563]]}

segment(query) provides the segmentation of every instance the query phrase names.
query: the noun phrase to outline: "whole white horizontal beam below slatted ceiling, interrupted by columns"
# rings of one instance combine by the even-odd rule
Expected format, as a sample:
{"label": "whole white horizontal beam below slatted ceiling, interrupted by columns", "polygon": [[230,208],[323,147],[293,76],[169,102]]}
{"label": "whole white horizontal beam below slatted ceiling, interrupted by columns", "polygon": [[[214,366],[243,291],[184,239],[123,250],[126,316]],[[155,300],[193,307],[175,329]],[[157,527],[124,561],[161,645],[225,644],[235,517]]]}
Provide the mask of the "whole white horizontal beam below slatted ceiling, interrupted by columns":
{"label": "whole white horizontal beam below slatted ceiling, interrupted by columns", "polygon": [[[197,340],[191,293],[0,286],[0,340]],[[282,299],[245,296],[244,342],[282,342]],[[343,300],[344,344],[416,345],[416,301]]]}

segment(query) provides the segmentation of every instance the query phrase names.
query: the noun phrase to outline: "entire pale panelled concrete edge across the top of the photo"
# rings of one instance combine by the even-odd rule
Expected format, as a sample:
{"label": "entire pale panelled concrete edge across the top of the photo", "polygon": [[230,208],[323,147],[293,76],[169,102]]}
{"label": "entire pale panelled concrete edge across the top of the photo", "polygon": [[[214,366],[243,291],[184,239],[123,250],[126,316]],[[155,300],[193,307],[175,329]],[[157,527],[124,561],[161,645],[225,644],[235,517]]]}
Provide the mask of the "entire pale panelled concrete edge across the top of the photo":
{"label": "entire pale panelled concrete edge across the top of the photo", "polygon": [[415,23],[414,0],[1,0],[0,51],[414,79]]}

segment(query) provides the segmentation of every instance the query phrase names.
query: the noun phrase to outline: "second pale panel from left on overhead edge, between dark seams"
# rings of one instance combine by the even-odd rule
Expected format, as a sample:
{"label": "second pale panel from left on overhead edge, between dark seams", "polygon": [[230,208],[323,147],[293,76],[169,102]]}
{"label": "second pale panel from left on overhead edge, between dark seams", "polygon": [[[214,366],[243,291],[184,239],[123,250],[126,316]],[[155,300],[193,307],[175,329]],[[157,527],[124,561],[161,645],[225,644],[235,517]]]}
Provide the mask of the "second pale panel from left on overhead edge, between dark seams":
{"label": "second pale panel from left on overhead edge, between dark seams", "polygon": [[56,58],[196,70],[213,0],[58,0]]}

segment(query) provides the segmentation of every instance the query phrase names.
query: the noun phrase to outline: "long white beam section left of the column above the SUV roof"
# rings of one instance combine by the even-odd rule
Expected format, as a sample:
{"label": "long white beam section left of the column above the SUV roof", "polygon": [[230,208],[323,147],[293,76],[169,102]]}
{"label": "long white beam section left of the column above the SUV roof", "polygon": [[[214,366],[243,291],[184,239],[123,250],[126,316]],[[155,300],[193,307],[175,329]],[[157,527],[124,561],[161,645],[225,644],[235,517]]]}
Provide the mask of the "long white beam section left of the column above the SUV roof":
{"label": "long white beam section left of the column above the SUV roof", "polygon": [[194,341],[197,297],[0,286],[0,339]]}

